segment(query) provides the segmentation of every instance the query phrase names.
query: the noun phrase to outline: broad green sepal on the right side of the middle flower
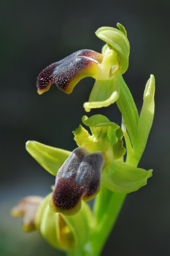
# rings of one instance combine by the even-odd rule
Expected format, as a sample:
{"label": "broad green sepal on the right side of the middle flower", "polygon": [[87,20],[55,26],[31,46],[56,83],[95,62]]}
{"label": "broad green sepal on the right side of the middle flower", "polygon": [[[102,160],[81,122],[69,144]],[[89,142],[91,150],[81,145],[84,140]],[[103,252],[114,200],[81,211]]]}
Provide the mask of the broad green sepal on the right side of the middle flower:
{"label": "broad green sepal on the right side of the middle flower", "polygon": [[116,193],[130,193],[147,184],[152,170],[130,166],[121,161],[114,161],[101,175],[103,185]]}

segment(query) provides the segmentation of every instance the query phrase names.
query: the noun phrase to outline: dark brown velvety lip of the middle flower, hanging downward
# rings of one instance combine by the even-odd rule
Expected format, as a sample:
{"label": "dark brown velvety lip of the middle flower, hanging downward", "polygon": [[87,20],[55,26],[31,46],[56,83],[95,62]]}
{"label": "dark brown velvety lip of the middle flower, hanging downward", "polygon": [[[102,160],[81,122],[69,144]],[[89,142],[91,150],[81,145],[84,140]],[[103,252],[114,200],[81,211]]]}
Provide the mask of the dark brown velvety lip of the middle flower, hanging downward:
{"label": "dark brown velvety lip of the middle flower, hanging downward", "polygon": [[75,149],[58,170],[50,208],[64,214],[77,213],[81,199],[90,200],[98,193],[103,165],[100,151],[88,154],[84,147]]}

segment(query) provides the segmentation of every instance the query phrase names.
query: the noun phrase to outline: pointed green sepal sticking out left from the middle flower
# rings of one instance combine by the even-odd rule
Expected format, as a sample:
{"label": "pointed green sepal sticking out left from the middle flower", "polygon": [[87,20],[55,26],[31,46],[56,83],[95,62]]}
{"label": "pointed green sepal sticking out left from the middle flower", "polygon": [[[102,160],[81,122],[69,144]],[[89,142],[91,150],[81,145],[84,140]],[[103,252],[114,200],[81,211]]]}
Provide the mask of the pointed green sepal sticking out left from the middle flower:
{"label": "pointed green sepal sticking out left from the middle flower", "polygon": [[56,176],[71,152],[60,148],[46,146],[37,141],[27,141],[26,149],[46,171]]}

